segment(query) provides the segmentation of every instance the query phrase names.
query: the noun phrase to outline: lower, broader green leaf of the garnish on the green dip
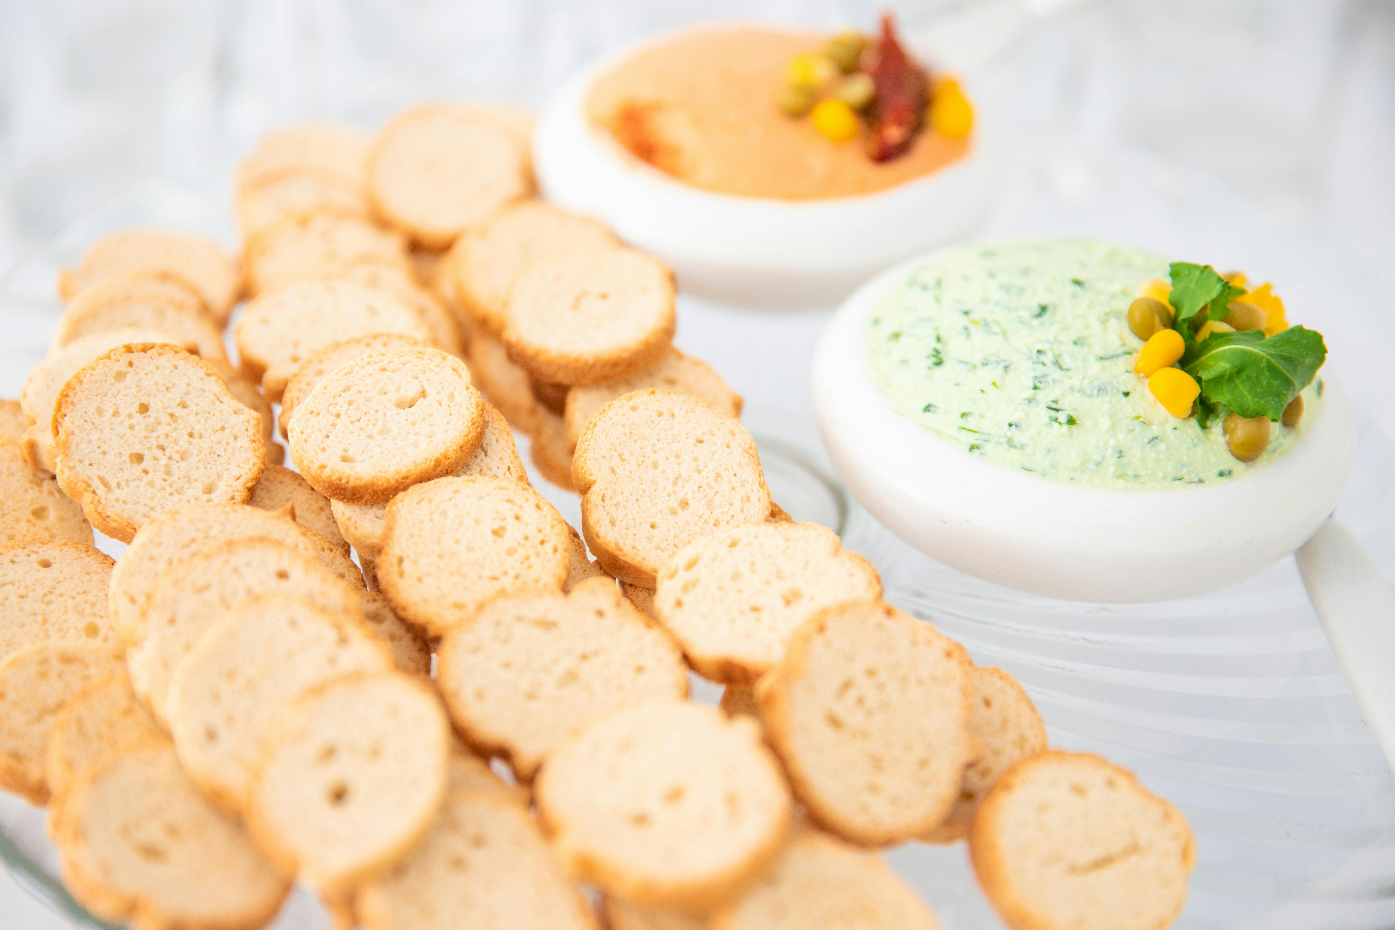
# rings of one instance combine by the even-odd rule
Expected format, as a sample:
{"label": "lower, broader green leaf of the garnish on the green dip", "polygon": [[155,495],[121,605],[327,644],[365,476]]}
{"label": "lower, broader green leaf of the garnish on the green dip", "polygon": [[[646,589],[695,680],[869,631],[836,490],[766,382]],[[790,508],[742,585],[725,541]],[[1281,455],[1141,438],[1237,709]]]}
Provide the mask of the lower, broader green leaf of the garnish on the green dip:
{"label": "lower, broader green leaf of the garnish on the green dip", "polygon": [[1187,349],[1182,368],[1201,382],[1201,395],[1212,406],[1276,421],[1311,383],[1324,358],[1322,333],[1290,326],[1268,339],[1260,329],[1214,333]]}

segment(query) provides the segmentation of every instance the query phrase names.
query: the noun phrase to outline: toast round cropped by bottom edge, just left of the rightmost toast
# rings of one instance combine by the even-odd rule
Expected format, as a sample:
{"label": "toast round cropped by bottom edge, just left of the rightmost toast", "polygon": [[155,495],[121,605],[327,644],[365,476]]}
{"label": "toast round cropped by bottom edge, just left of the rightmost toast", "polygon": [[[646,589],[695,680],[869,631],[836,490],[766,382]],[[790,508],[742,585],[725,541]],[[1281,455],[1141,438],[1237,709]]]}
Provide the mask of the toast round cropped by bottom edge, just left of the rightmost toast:
{"label": "toast round cropped by bottom edge, just left of the rightmost toast", "polygon": [[939,930],[930,908],[875,856],[797,831],[746,894],[713,915],[713,930]]}

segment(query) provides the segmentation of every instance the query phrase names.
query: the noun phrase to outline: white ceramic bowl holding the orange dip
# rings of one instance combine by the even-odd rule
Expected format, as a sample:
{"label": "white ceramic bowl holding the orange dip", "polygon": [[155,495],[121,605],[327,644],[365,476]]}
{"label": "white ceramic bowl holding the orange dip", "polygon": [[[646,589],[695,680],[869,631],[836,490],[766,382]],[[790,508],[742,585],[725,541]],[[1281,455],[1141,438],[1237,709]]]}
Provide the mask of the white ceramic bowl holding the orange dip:
{"label": "white ceramic bowl holding the orange dip", "polygon": [[548,199],[604,220],[668,262],[695,297],[748,308],[831,307],[889,264],[972,231],[997,191],[997,146],[982,119],[968,156],[876,194],[781,201],[682,184],[586,117],[594,78],[635,52],[593,66],[548,103],[534,167]]}

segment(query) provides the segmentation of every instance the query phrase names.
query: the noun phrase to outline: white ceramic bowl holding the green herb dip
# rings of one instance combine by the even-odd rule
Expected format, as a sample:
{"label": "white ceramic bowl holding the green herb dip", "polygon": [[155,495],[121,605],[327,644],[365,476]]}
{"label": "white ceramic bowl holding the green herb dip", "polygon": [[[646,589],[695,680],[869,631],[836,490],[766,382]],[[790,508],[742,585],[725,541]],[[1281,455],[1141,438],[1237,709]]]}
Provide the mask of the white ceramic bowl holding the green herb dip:
{"label": "white ceramic bowl holding the green herb dip", "polygon": [[815,354],[813,402],[848,489],[930,558],[1071,601],[1168,601],[1268,567],[1332,512],[1356,431],[1346,392],[1327,371],[1317,422],[1302,442],[1251,475],[1201,488],[1076,488],[976,459],[907,420],[872,381],[866,321],[929,258],[877,275],[843,304]]}

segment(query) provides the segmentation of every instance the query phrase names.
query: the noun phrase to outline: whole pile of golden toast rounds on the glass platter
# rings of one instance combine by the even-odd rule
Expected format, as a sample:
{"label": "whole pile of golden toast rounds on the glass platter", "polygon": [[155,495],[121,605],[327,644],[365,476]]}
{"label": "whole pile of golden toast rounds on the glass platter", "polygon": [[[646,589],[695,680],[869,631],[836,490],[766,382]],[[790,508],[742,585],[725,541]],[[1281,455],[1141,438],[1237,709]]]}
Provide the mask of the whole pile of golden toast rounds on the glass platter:
{"label": "whole pile of golden toast rounds on the glass platter", "polygon": [[530,131],[280,128],[237,257],[126,230],[63,272],[0,406],[0,786],[71,894],[142,930],[294,883],[367,930],[928,930],[877,851],[967,839],[1014,930],[1175,920],[1182,816],[770,499],[672,275],[534,197]]}

